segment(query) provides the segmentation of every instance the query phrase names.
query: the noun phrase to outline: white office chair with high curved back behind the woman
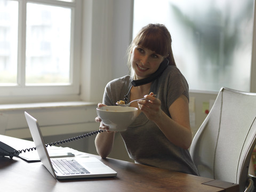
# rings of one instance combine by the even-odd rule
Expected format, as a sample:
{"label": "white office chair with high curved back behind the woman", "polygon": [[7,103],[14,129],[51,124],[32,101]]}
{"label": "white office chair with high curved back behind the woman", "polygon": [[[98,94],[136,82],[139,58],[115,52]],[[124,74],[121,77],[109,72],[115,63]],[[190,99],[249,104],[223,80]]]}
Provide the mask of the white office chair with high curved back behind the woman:
{"label": "white office chair with high curved back behind the woman", "polygon": [[256,140],[256,93],[222,87],[190,147],[199,175],[253,191],[248,175]]}

